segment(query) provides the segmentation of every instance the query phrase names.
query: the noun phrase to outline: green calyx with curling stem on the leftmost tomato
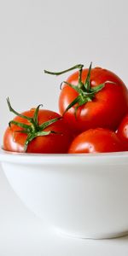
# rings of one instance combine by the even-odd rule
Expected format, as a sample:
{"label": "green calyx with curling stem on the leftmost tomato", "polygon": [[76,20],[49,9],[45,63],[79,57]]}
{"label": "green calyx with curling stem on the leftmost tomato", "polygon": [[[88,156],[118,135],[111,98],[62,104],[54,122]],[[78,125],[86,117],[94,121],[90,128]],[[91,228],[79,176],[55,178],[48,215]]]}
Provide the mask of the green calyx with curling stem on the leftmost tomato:
{"label": "green calyx with curling stem on the leftmost tomato", "polygon": [[58,133],[56,131],[44,131],[44,129],[47,128],[49,125],[55,123],[59,119],[61,119],[61,117],[58,117],[55,119],[49,119],[48,121],[44,122],[43,124],[38,125],[38,111],[39,111],[39,108],[43,106],[42,104],[38,105],[38,107],[35,109],[33,117],[31,118],[31,117],[28,117],[26,115],[23,115],[23,114],[15,111],[15,109],[12,108],[12,106],[9,102],[9,97],[7,98],[7,103],[8,103],[10,112],[15,113],[17,116],[19,116],[22,119],[26,119],[30,123],[30,125],[26,125],[24,123],[21,123],[21,122],[15,121],[15,120],[9,121],[10,128],[11,128],[11,125],[17,125],[20,128],[22,128],[22,130],[17,130],[14,132],[21,132],[21,133],[25,133],[27,135],[26,142],[24,145],[25,152],[27,150],[28,144],[31,143],[34,138],[40,137],[40,136],[47,136],[51,133],[54,133],[54,134]]}

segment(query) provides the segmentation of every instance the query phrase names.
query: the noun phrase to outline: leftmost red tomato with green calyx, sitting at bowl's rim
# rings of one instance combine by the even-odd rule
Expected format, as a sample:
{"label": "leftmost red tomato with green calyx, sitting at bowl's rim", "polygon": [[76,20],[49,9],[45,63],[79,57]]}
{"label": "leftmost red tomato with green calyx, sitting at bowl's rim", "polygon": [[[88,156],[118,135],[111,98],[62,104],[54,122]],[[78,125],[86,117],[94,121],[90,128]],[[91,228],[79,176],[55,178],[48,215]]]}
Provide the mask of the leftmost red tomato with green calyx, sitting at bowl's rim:
{"label": "leftmost red tomato with green calyx, sitting at bowl's rim", "polygon": [[[38,111],[35,115],[34,127],[29,118],[33,120],[36,109]],[[36,109],[17,113],[18,115],[10,122],[10,127],[4,133],[3,149],[27,153],[67,153],[72,136],[65,121],[60,119],[61,115],[50,110]],[[42,124],[46,127],[39,129],[39,125]]]}

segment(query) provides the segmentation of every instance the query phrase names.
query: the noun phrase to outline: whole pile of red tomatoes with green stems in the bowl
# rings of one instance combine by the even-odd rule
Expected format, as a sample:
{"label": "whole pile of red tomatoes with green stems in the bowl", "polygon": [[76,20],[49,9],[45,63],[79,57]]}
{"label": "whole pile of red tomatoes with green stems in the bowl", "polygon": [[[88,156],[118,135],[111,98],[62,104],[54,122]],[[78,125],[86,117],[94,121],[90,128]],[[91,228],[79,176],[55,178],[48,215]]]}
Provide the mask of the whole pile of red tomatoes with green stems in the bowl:
{"label": "whole pile of red tomatoes with green stems in the bowl", "polygon": [[42,105],[18,113],[4,132],[3,149],[13,152],[74,154],[128,150],[128,89],[119,77],[102,67],[76,65],[61,83],[59,112]]}

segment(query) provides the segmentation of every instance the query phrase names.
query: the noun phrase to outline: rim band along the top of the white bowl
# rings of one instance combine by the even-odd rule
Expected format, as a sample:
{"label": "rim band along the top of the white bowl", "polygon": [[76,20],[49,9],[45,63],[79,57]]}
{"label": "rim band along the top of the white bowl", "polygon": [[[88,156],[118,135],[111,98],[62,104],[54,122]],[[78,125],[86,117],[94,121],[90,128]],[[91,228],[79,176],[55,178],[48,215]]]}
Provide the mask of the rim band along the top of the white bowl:
{"label": "rim band along the top of the white bowl", "polygon": [[90,153],[90,154],[33,154],[33,153],[18,153],[6,151],[0,148],[0,162],[10,163],[31,163],[31,164],[42,164],[42,163],[62,163],[62,164],[85,164],[88,162],[102,162],[104,160],[108,163],[108,160],[113,163],[119,163],[121,160],[125,160],[128,163],[128,151],[121,152],[110,152],[110,153]]}

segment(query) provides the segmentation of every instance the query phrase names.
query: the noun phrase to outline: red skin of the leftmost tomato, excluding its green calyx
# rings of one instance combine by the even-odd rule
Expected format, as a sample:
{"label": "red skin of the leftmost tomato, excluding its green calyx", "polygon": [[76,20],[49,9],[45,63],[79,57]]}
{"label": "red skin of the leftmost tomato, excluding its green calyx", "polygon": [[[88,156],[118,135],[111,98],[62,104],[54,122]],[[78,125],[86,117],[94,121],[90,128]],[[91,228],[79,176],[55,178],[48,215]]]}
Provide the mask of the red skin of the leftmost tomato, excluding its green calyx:
{"label": "red skin of the leftmost tomato, excluding its green calyx", "polygon": [[[33,117],[35,109],[32,108],[22,114]],[[38,124],[48,121],[49,119],[55,119],[61,117],[59,113],[55,113],[50,110],[39,109],[38,111]],[[22,119],[19,116],[16,116],[15,121],[30,125],[28,120]],[[20,131],[22,128],[17,125],[11,125],[11,128],[8,127],[3,136],[3,149],[13,152],[24,152],[24,145],[26,142],[27,135]],[[58,134],[49,134],[47,136],[36,137],[28,144],[26,150],[27,153],[67,153],[69,144],[72,141],[72,135],[67,125],[63,119],[57,120],[55,123],[49,125],[44,131],[56,131]]]}

